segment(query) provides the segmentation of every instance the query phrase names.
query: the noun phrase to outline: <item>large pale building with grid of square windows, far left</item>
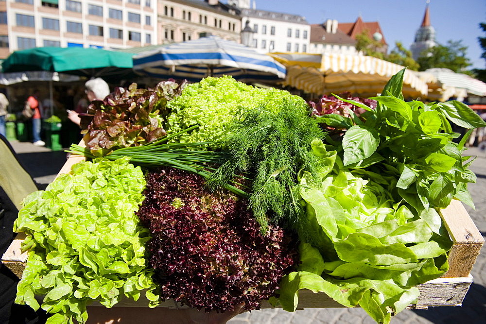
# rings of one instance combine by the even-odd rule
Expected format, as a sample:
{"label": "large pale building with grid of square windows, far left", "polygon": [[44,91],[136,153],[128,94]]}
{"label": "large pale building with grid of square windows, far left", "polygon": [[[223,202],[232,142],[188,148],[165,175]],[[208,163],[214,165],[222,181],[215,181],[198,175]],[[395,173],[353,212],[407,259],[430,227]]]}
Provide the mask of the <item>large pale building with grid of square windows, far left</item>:
{"label": "large pale building with grid of square windows, far left", "polygon": [[43,46],[156,44],[157,0],[0,1],[0,58]]}

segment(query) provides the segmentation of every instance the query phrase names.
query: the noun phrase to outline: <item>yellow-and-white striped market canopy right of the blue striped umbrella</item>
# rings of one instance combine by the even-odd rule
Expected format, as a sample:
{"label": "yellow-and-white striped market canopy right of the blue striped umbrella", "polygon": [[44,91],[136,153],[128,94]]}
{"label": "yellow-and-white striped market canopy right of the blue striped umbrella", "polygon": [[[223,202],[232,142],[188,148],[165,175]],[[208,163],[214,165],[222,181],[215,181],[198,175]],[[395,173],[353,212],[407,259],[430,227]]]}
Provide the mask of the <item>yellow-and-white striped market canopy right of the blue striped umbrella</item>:
{"label": "yellow-and-white striped market canopy right of the blue striped umbrella", "polygon": [[[380,93],[390,79],[404,67],[376,57],[347,54],[270,53],[287,68],[284,85],[315,95],[344,91],[369,97]],[[411,71],[403,76],[403,95],[417,98],[427,94],[427,84]]]}

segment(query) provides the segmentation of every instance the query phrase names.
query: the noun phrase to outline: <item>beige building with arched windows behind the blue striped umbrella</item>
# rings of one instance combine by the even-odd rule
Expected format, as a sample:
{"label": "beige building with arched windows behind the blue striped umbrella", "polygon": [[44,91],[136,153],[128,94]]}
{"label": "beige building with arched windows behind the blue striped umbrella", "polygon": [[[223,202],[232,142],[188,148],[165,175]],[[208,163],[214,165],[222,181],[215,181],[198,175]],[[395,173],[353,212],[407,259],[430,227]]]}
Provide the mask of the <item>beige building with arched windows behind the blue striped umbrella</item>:
{"label": "beige building with arched windows behind the blue striped umbrella", "polygon": [[240,11],[218,0],[158,0],[158,44],[197,39],[202,34],[240,42]]}

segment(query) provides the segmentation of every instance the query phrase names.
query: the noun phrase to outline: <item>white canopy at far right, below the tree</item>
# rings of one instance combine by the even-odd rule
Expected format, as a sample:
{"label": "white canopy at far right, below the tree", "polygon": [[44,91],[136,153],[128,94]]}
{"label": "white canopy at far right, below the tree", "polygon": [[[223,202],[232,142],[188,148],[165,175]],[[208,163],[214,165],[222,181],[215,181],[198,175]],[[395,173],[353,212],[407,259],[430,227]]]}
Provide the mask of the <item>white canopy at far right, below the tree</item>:
{"label": "white canopy at far right, below the tree", "polygon": [[434,75],[443,87],[454,87],[465,90],[467,94],[486,96],[486,84],[467,74],[455,73],[449,68],[429,68],[425,72]]}

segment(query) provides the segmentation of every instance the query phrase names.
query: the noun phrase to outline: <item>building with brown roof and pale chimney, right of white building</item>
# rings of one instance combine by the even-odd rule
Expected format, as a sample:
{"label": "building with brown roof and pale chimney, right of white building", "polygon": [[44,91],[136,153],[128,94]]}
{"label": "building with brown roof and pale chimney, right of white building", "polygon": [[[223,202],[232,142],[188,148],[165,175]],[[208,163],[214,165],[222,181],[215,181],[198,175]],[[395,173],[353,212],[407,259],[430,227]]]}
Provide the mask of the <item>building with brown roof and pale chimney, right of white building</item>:
{"label": "building with brown roof and pale chimney, right of white building", "polygon": [[312,24],[310,43],[309,53],[312,54],[357,54],[356,41],[338,29],[337,20]]}

